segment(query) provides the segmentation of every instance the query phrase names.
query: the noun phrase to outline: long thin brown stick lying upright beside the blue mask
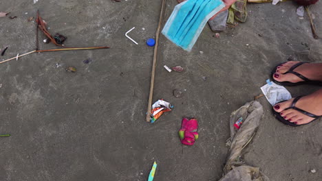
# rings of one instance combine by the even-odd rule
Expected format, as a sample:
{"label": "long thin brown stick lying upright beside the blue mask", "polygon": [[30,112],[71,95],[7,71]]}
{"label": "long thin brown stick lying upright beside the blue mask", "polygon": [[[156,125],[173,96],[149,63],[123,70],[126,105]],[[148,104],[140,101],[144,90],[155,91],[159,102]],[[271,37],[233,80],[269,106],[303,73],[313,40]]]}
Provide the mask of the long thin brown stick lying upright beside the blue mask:
{"label": "long thin brown stick lying upright beside the blue mask", "polygon": [[147,108],[147,122],[150,122],[151,119],[151,106],[152,106],[152,98],[153,98],[153,88],[154,88],[154,76],[155,76],[155,65],[158,56],[158,45],[159,45],[159,35],[162,24],[162,16],[164,11],[164,5],[166,0],[162,0],[161,12],[159,17],[159,25],[155,35],[155,47],[154,47],[154,55],[153,55],[153,64],[152,64],[152,73],[151,73],[151,84],[150,84],[150,93],[149,93],[149,104]]}

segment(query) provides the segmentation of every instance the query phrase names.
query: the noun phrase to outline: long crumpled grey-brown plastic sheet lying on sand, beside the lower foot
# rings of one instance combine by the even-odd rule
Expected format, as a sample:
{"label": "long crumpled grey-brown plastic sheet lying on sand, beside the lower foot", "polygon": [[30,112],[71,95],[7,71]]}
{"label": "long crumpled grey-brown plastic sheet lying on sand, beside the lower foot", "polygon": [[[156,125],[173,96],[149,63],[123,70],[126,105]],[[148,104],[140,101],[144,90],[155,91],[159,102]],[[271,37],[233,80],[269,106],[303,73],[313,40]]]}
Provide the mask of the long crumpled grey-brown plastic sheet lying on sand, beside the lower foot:
{"label": "long crumpled grey-brown plastic sheet lying on sand, beside the lower foot", "polygon": [[[224,167],[224,176],[219,181],[269,181],[269,178],[259,171],[259,167],[251,167],[239,160],[241,150],[252,140],[263,114],[263,106],[259,101],[251,101],[230,115],[231,145]],[[234,123],[239,117],[245,121],[237,130]]]}

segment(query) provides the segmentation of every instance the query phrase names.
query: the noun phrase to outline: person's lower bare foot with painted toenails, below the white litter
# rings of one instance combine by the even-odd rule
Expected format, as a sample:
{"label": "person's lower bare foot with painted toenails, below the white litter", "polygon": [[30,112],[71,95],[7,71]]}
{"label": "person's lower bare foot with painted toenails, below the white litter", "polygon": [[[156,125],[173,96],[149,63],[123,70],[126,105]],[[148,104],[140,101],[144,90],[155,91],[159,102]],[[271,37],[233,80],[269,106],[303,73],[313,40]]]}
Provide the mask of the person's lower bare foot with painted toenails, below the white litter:
{"label": "person's lower bare foot with painted toenails, below the white litter", "polygon": [[[288,101],[275,104],[274,110],[277,112],[280,112],[281,116],[284,119],[292,123],[296,123],[297,125],[310,123],[312,120],[314,120],[314,118],[308,117],[307,115],[302,114],[297,110],[294,110],[294,109],[286,110],[286,108],[290,108],[293,99],[294,98]],[[297,101],[297,104],[295,105],[295,107],[305,110],[306,112],[315,114],[316,116],[321,116],[322,115],[322,88],[310,95],[301,97],[301,99]]]}

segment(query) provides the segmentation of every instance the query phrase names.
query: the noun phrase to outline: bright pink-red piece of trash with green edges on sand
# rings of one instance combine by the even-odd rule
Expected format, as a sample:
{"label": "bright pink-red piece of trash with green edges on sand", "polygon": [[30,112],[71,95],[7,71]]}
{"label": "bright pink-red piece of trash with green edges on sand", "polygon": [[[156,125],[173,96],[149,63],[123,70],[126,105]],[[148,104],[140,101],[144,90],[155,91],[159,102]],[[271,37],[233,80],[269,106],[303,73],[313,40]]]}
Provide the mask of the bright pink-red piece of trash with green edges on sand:
{"label": "bright pink-red piece of trash with green edges on sand", "polygon": [[198,121],[197,119],[183,118],[181,123],[181,129],[179,130],[180,141],[184,145],[193,145],[199,138]]}

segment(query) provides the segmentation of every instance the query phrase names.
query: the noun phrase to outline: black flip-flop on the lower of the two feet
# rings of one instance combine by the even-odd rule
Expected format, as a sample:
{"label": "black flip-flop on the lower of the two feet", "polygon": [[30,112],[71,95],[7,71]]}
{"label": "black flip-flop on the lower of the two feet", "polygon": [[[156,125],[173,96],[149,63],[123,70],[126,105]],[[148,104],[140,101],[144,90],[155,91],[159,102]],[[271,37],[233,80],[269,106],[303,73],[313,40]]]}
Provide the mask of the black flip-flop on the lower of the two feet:
{"label": "black flip-flop on the lower of the two feet", "polygon": [[[308,117],[315,118],[315,119],[313,119],[310,123],[312,123],[312,122],[313,122],[313,121],[315,121],[316,119],[319,119],[321,116],[316,116],[315,114],[312,114],[312,113],[310,113],[310,112],[307,112],[307,111],[305,111],[305,110],[302,110],[302,109],[300,109],[300,108],[295,107],[295,104],[297,104],[297,101],[299,101],[299,99],[301,99],[301,97],[302,97],[302,96],[296,97],[296,98],[293,100],[292,105],[290,106],[290,108],[287,108],[286,110],[288,110],[288,109],[294,109],[294,110],[297,110],[297,111],[301,112],[302,114],[307,115]],[[283,101],[280,101],[279,103],[281,103],[281,102],[283,102]],[[277,104],[278,104],[278,103],[277,103]],[[284,118],[281,116],[281,114],[280,114],[279,112],[276,112],[276,111],[274,110],[274,108],[272,108],[272,112],[273,112],[274,116],[276,117],[276,119],[278,119],[278,120],[279,120],[279,121],[281,121],[282,123],[284,123],[284,124],[286,124],[286,125],[291,125],[291,126],[300,126],[300,125],[297,125],[297,124],[295,124],[295,123],[292,123],[292,122],[290,122],[290,121],[288,121],[288,120],[284,119]],[[306,124],[308,124],[308,123],[306,123]],[[301,125],[306,125],[306,124],[301,124]]]}

